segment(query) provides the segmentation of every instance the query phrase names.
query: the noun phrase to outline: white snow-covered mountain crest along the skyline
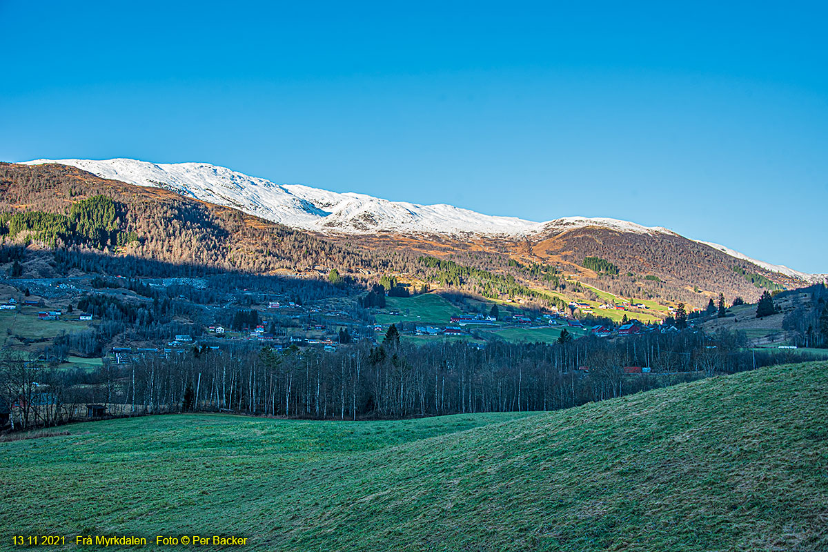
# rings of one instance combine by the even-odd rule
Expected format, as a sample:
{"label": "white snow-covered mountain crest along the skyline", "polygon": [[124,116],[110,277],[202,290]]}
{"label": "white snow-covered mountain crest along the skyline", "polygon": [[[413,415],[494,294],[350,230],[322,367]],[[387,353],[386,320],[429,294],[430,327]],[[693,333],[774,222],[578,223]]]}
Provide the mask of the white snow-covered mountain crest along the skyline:
{"label": "white snow-covered mountain crest along the skyline", "polygon": [[[566,217],[545,223],[514,217],[475,213],[448,204],[419,205],[378,199],[366,194],[336,193],[306,185],[280,185],[209,163],[150,163],[134,159],[26,161],[26,165],[57,163],[87,170],[102,178],[151,186],[239,209],[248,214],[321,233],[377,233],[489,235],[503,238],[545,239],[567,231],[600,227],[623,233],[676,233],[615,218]],[[787,266],[757,261],[716,243],[699,242],[720,252],[752,262],[768,271],[802,281],[826,281],[826,275],[795,271]]]}

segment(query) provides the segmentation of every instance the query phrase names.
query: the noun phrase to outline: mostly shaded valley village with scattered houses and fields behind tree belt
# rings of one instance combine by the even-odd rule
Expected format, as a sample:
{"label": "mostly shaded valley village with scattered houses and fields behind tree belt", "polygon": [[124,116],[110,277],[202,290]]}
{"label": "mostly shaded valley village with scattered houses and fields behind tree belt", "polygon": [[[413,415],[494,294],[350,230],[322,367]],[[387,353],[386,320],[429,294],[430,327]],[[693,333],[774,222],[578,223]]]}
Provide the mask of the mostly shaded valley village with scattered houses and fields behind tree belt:
{"label": "mostly shaded valley village with scattered houses and fields behind tree belt", "polygon": [[[289,292],[249,288],[210,292],[203,278],[128,281],[116,276],[102,282],[97,276],[86,276],[7,280],[0,286],[6,292],[0,304],[0,332],[5,330],[2,348],[32,362],[64,369],[89,370],[103,362],[123,365],[145,358],[170,359],[194,348],[219,354],[263,347],[275,352],[296,348],[335,353],[343,344],[382,343],[392,324],[407,343],[459,340],[476,348],[486,348],[497,340],[556,343],[585,336],[618,339],[680,331],[674,305],[624,300],[609,294],[604,295],[604,303],[570,300],[566,309],[551,306],[537,310],[520,301],[474,297],[449,301],[439,290],[408,297],[387,292],[382,308],[354,309],[348,297],[303,304]],[[188,296],[181,293],[185,288],[194,291]],[[206,294],[205,298],[199,293]],[[171,308],[182,314],[167,324],[169,329],[156,332],[157,337],[123,323],[118,324],[120,331],[111,338],[98,337],[100,329],[113,326],[114,307],[146,309],[165,295]],[[99,300],[89,299],[94,297]],[[104,310],[94,307],[99,312],[78,308],[104,302],[110,306]],[[686,324],[693,327],[703,313],[695,307],[687,310]],[[601,316],[604,313],[611,317]],[[239,318],[242,314],[250,319]],[[757,343],[786,346],[783,333],[753,331],[749,337]],[[81,334],[99,339],[98,346],[78,348],[70,343],[72,336]]]}

